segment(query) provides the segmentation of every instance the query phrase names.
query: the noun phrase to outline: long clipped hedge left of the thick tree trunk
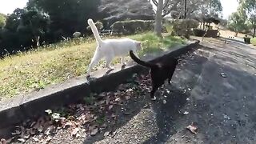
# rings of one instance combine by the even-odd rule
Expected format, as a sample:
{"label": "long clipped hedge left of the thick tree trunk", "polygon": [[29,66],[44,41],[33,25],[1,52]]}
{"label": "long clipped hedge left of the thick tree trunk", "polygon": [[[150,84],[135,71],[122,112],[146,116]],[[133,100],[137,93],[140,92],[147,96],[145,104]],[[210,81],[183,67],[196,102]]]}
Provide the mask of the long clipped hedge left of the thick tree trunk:
{"label": "long clipped hedge left of the thick tree trunk", "polygon": [[153,20],[128,20],[114,22],[110,26],[112,30],[119,30],[122,34],[136,34],[138,32],[145,32],[154,30]]}

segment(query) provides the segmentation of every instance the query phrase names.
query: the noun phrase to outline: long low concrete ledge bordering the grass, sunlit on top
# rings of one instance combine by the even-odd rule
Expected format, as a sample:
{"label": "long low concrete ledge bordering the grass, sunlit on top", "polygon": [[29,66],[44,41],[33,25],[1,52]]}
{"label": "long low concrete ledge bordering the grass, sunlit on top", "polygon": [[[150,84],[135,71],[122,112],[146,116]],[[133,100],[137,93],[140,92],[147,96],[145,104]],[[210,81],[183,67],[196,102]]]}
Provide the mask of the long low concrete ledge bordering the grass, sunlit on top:
{"label": "long low concrete ledge bordering the grass, sunlit on top", "polygon": [[[160,54],[161,57],[154,58],[150,62],[168,61],[171,57],[178,57],[198,46],[198,41],[190,42],[187,46],[178,47]],[[143,58],[145,59],[145,58]],[[152,57],[151,57],[152,59]],[[92,74],[95,79],[88,82],[85,76],[72,78],[62,84],[46,87],[22,97],[16,97],[0,102],[0,138],[10,138],[10,131],[18,123],[44,114],[44,110],[54,109],[71,103],[79,102],[90,93],[101,93],[103,91],[115,90],[118,85],[131,78],[134,73],[146,73],[148,69],[134,64],[128,65],[120,70],[117,66],[110,74],[106,70],[98,70]]]}

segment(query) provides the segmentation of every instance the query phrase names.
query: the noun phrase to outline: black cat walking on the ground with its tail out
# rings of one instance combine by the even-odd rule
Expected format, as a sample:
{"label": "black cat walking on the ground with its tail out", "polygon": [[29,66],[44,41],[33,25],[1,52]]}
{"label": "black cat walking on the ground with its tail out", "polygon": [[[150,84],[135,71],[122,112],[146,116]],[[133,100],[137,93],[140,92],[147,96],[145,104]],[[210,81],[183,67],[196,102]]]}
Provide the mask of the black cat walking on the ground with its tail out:
{"label": "black cat walking on the ground with its tail out", "polygon": [[154,93],[158,90],[158,87],[162,86],[166,79],[168,79],[168,83],[170,84],[170,80],[174,74],[175,68],[178,64],[178,58],[170,58],[167,62],[144,62],[136,57],[132,50],[130,50],[130,58],[132,58],[139,65],[146,66],[150,68],[150,77],[152,83],[152,90],[150,91],[150,98],[152,100],[156,100]]}

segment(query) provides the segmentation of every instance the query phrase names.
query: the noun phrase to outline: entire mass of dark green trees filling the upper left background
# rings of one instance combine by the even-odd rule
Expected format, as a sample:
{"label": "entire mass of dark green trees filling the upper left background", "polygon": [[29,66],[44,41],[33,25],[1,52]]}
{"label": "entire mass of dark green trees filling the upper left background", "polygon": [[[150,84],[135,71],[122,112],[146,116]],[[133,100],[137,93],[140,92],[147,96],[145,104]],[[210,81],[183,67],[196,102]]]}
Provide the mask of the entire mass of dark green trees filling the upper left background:
{"label": "entire mass of dark green trees filling the upper left background", "polygon": [[75,31],[86,32],[86,19],[98,18],[100,0],[30,0],[24,9],[0,17],[0,57],[42,43],[58,42]]}

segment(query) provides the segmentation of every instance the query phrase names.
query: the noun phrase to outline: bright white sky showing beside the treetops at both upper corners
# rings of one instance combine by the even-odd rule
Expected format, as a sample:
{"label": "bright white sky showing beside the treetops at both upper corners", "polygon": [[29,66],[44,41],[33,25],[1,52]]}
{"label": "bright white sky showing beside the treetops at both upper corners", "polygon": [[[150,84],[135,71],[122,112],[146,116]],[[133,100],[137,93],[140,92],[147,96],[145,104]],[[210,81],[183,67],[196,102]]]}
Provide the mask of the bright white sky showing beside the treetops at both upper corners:
{"label": "bright white sky showing beside the treetops at both upper corners", "polygon": [[[54,0],[53,0],[54,1]],[[16,8],[23,8],[26,6],[28,0],[0,0],[0,13],[11,14]],[[237,10],[237,0],[221,0],[223,7],[223,18]]]}

